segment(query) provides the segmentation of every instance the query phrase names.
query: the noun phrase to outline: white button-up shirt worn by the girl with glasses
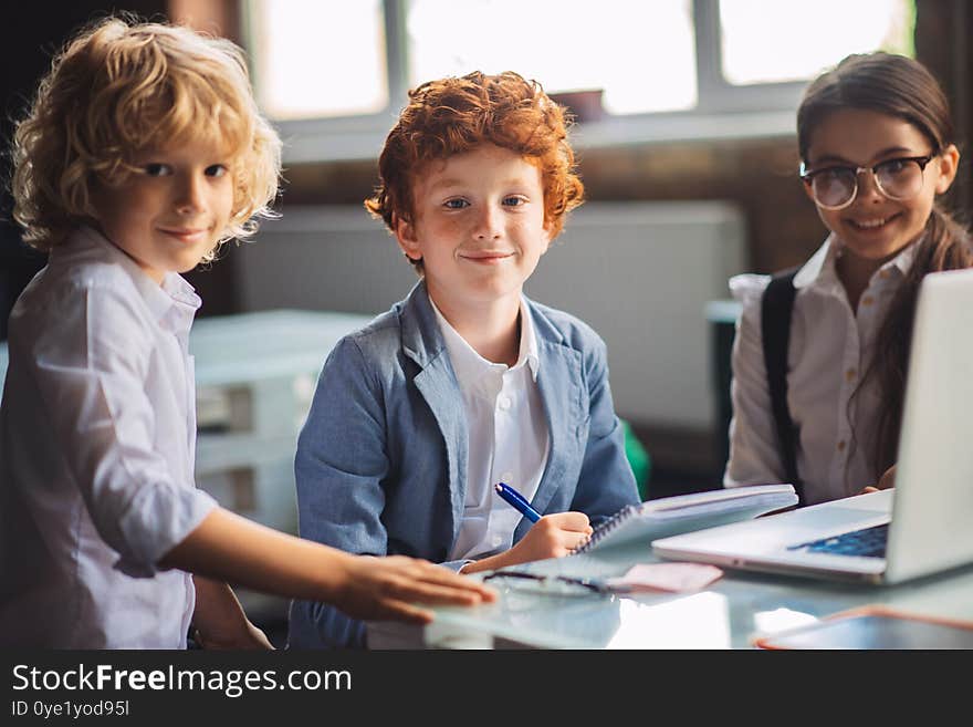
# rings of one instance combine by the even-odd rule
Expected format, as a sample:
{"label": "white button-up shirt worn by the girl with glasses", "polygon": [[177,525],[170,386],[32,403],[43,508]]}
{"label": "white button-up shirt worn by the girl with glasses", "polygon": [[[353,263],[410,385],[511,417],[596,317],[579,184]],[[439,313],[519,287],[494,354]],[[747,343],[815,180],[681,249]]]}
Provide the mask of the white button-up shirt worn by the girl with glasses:
{"label": "white button-up shirt worn by the girl with glasses", "polygon": [[[880,404],[875,381],[849,399],[867,371],[889,302],[916,257],[918,242],[870,278],[854,313],[835,268],[834,236],[794,278],[797,295],[787,354],[787,405],[799,429],[797,471],[808,503],[856,495],[881,476],[869,465]],[[743,303],[733,343],[733,420],[726,487],[780,482],[786,477],[771,409],[761,334],[761,297],[768,276],[730,280]]]}

